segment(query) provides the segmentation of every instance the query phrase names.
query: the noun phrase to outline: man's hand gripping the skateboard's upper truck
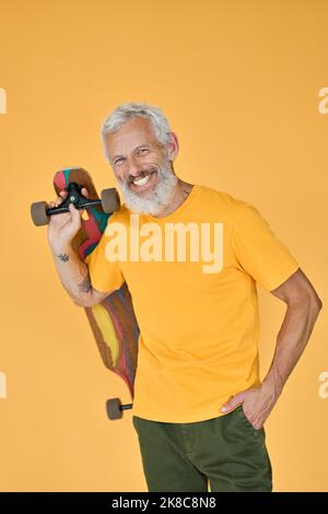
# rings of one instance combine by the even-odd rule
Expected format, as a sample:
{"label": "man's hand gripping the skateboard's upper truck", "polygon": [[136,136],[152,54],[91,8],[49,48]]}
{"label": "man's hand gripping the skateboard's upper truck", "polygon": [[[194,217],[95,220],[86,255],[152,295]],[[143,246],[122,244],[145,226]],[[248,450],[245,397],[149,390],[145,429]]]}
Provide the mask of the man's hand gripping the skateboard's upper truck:
{"label": "man's hand gripping the skateboard's upper truck", "polygon": [[[87,189],[81,189],[82,195],[89,198]],[[51,201],[49,207],[58,207],[67,197],[67,191],[60,191],[56,201]],[[48,225],[48,241],[54,252],[62,252],[68,248],[81,227],[83,210],[69,205],[70,212],[50,215]]]}

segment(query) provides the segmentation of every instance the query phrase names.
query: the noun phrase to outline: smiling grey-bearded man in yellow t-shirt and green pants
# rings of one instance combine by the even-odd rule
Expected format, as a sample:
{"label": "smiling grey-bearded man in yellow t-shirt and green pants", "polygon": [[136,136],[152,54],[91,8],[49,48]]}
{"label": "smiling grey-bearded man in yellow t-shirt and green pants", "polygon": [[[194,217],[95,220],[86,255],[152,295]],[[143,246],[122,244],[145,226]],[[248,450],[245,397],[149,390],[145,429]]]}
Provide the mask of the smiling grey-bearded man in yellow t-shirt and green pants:
{"label": "smiling grey-bearded man in yellow t-shirt and green pants", "polygon": [[[263,423],[321,301],[254,206],[176,176],[178,139],[157,107],[121,105],[102,135],[125,205],[87,266],[71,247],[81,223],[73,206],[51,218],[48,238],[75,304],[97,304],[124,281],[131,292],[140,327],[132,420],[149,491],[207,491],[208,481],[211,491],[271,491]],[[185,246],[172,254],[163,244],[173,227]],[[256,282],[286,304],[262,382]]]}

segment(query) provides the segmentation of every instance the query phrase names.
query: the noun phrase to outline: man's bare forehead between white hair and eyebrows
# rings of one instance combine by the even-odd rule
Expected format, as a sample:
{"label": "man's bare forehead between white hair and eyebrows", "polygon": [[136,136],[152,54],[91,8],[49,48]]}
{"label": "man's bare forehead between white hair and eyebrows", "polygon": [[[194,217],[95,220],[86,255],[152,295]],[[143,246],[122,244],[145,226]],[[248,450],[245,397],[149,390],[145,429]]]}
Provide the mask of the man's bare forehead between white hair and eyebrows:
{"label": "man's bare forehead between white hair and eyebrows", "polygon": [[151,122],[141,117],[126,121],[116,132],[107,133],[105,139],[109,155],[113,156],[133,150],[139,144],[160,145]]}

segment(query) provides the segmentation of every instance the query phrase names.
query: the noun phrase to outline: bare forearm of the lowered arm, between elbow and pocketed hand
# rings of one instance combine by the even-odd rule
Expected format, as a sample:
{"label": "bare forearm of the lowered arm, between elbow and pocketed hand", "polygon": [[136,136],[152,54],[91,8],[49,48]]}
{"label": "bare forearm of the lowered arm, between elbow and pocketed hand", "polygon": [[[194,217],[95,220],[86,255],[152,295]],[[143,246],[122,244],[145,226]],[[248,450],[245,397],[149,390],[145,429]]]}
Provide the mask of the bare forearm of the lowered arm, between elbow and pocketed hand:
{"label": "bare forearm of the lowered arm, between elbow and pocketed hand", "polygon": [[319,311],[320,305],[314,301],[288,305],[277,337],[274,357],[262,382],[269,396],[278,398],[281,394],[288,377],[307,344]]}

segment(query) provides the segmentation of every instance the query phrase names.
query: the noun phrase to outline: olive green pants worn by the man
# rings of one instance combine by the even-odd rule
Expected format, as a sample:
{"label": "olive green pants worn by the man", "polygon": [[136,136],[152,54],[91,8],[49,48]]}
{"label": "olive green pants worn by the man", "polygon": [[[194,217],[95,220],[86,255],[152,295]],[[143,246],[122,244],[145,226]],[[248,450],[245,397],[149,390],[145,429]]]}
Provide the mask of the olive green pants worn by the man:
{"label": "olive green pants worn by the man", "polygon": [[242,406],[192,423],[132,417],[149,491],[272,490],[265,429],[256,430]]}

